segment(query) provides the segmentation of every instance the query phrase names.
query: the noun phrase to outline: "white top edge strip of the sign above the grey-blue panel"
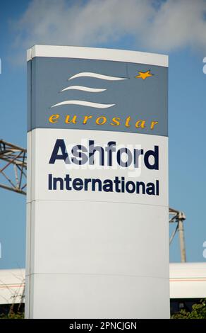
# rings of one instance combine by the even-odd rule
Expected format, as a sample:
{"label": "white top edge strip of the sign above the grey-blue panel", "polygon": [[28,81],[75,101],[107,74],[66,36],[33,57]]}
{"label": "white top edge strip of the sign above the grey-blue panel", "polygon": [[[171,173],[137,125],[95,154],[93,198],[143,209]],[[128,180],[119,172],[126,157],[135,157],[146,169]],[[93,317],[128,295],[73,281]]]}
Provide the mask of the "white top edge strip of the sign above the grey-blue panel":
{"label": "white top edge strip of the sign above the grey-blue panel", "polygon": [[133,62],[168,67],[168,55],[139,52],[131,50],[117,50],[99,47],[78,47],[59,45],[34,45],[27,50],[27,61],[34,57],[63,57],[90,60],[110,60],[118,62]]}

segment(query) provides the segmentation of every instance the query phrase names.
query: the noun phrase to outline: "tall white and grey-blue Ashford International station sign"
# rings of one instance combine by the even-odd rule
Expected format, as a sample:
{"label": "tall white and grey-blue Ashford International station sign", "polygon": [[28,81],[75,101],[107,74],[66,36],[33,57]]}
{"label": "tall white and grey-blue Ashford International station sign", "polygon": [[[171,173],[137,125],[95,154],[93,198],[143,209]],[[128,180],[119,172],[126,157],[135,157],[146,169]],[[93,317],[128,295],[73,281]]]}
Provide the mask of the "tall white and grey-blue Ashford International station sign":
{"label": "tall white and grey-blue Ashford International station sign", "polygon": [[167,67],[28,50],[27,317],[169,317]]}

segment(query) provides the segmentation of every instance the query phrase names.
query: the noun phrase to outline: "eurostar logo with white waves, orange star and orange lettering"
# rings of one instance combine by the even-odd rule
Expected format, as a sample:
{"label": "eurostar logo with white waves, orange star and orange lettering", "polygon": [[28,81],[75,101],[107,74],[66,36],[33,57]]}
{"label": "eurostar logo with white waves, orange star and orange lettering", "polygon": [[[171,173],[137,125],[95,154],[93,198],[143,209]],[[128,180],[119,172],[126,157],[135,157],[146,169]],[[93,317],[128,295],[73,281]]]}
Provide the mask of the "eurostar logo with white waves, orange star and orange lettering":
{"label": "eurostar logo with white waves, orange star and orange lettering", "polygon": [[[145,128],[153,130],[154,127],[158,125],[158,121],[156,119],[145,119],[145,117],[136,117],[136,112],[133,114],[128,114],[126,118],[122,118],[117,112],[118,108],[116,108],[117,111],[115,111],[115,114],[111,111],[112,108],[115,106],[119,107],[119,101],[118,101],[118,94],[111,94],[109,91],[112,89],[118,89],[118,82],[122,82],[120,87],[120,94],[122,96],[126,94],[125,91],[128,91],[128,96],[130,96],[131,86],[133,84],[136,86],[136,93],[135,94],[141,94],[141,86],[145,86],[145,84],[137,84],[136,79],[147,79],[147,77],[153,77],[154,74],[150,72],[150,70],[147,70],[146,72],[138,72],[137,74],[136,69],[135,72],[127,72],[127,75],[125,77],[117,77],[117,76],[111,76],[106,73],[97,73],[97,72],[76,72],[75,74],[71,75],[71,77],[68,77],[67,81],[68,83],[65,86],[61,86],[60,88],[60,95],[63,101],[59,101],[59,103],[55,103],[50,108],[60,108],[63,106],[80,106],[81,107],[87,107],[89,108],[89,113],[85,114],[82,113],[82,111],[78,111],[78,109],[69,108],[69,113],[67,113],[66,109],[63,110],[63,115],[60,113],[55,113],[52,115],[49,115],[49,123],[57,124],[61,121],[63,121],[64,124],[71,124],[77,125],[81,127],[81,125],[89,125],[91,128],[97,128],[99,126],[107,126],[107,129],[111,126],[111,128],[116,128],[118,126],[124,128],[124,130],[128,130],[133,126],[135,129],[142,129]],[[80,81],[75,81],[76,79],[80,79]],[[83,79],[83,81],[81,81]],[[87,81],[87,79],[89,79]],[[95,79],[95,81],[93,81]],[[110,82],[112,83],[112,86],[110,85]],[[83,85],[84,83],[84,85]],[[93,85],[94,83],[94,85]],[[116,85],[117,84],[117,85]],[[147,85],[147,84],[146,84]],[[143,90],[145,88],[143,87]],[[133,90],[135,91],[135,90]],[[72,93],[73,92],[73,93]],[[102,95],[102,96],[101,96]],[[63,98],[63,96],[66,96]],[[71,96],[78,96],[79,98],[74,99],[71,98]],[[84,98],[85,96],[85,98]],[[105,96],[105,97],[104,97]],[[69,98],[70,97],[70,98]],[[100,97],[100,98],[99,98]],[[104,99],[105,102],[104,103]],[[103,101],[103,103],[102,103]],[[122,101],[121,101],[122,103]],[[121,109],[121,103],[120,103],[120,110]],[[92,111],[92,108],[95,109]],[[105,109],[105,111],[111,111],[106,112],[104,114],[96,112],[98,109]],[[66,112],[65,112],[66,111]],[[65,114],[66,113],[66,114]],[[97,125],[97,126],[96,126]]]}

